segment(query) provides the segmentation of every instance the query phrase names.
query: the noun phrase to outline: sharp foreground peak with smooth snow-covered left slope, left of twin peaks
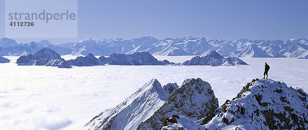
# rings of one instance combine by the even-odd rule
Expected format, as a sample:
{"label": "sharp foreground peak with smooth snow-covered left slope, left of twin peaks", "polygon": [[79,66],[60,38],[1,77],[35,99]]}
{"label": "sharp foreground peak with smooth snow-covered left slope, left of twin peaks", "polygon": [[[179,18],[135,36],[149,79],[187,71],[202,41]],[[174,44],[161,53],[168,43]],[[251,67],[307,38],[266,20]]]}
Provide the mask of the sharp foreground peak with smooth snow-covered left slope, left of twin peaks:
{"label": "sharp foreground peak with smooth snow-covered left slope, left of twin peaks", "polygon": [[137,126],[153,115],[167,101],[176,83],[161,86],[157,79],[152,79],[137,92],[126,98],[113,109],[108,109],[95,116],[88,124],[88,129],[136,129]]}

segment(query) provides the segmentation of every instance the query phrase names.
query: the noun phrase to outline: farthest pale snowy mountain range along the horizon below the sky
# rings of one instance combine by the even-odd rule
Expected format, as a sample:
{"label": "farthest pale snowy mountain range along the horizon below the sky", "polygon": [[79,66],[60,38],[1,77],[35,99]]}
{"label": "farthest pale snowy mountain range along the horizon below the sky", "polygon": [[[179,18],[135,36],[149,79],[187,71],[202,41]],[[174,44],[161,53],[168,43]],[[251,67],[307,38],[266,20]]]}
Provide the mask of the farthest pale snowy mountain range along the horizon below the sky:
{"label": "farthest pale snowy mountain range along the horizon below the sky", "polygon": [[215,50],[225,57],[292,57],[308,59],[307,39],[277,40],[248,40],[237,39],[206,40],[204,37],[165,38],[140,37],[130,40],[84,39],[68,42],[62,45],[53,45],[47,40],[20,43],[13,39],[0,39],[0,55],[21,56],[34,54],[43,49],[50,48],[60,55],[111,55],[112,53],[133,54],[134,52],[149,52],[152,55],[203,55],[210,50]]}

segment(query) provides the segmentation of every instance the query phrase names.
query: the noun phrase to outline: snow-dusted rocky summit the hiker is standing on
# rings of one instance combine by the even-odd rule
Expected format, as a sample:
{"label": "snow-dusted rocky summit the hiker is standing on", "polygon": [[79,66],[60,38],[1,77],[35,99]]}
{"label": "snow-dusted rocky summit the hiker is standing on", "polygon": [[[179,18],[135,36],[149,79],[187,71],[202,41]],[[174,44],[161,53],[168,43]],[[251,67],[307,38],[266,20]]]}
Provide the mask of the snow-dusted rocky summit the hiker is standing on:
{"label": "snow-dusted rocky summit the hiker is standing on", "polygon": [[213,112],[213,118],[191,123],[180,117],[163,129],[307,129],[307,98],[302,89],[283,82],[254,79]]}

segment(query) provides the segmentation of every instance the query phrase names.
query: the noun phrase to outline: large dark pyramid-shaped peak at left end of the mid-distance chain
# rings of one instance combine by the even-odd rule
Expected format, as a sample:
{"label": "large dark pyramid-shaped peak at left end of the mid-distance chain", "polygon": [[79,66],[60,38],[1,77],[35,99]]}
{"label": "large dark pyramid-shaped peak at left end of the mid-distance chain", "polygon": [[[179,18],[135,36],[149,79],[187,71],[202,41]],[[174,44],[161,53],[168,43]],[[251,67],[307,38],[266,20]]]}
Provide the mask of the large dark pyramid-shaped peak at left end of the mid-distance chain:
{"label": "large dark pyramid-shaped peak at left end of the mid-distance chain", "polygon": [[51,66],[58,68],[72,68],[59,54],[55,51],[44,48],[34,55],[28,54],[17,59],[19,66]]}

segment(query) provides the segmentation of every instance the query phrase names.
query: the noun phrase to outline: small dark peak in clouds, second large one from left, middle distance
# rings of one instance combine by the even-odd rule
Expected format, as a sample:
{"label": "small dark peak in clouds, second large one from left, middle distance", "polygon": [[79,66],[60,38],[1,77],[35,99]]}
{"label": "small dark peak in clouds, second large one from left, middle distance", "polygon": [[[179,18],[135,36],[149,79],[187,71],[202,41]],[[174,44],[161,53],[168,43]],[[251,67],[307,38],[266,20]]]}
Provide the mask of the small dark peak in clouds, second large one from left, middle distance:
{"label": "small dark peak in clouds, second large one from left, middle distance", "polygon": [[105,63],[89,53],[87,56],[78,56],[75,59],[67,61],[71,66],[89,67],[89,66],[103,66]]}

